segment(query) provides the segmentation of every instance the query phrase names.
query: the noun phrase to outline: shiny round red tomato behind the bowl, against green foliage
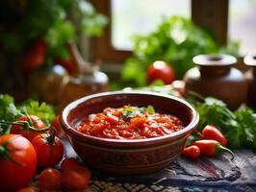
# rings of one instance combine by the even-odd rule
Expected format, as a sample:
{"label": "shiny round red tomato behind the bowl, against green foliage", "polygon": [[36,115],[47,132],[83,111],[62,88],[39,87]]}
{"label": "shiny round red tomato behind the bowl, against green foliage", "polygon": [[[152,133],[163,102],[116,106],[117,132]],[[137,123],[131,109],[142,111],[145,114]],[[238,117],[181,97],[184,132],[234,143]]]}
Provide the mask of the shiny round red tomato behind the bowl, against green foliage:
{"label": "shiny round red tomato behind the bowl, against green foliage", "polygon": [[175,80],[175,72],[167,62],[158,60],[147,69],[147,83],[162,80],[165,84],[171,84]]}

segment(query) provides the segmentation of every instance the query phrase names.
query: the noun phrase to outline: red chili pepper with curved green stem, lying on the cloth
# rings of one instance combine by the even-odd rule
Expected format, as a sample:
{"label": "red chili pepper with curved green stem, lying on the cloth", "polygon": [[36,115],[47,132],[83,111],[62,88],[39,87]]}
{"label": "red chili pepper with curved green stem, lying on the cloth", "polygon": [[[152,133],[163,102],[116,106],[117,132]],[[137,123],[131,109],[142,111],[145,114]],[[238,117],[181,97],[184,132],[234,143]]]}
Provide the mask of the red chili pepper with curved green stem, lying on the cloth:
{"label": "red chili pepper with curved green stem, lying on the cloth", "polygon": [[232,159],[234,158],[233,152],[220,145],[220,143],[216,140],[198,140],[194,141],[192,145],[196,145],[200,149],[200,153],[202,155],[218,156],[222,152],[228,152],[232,156]]}

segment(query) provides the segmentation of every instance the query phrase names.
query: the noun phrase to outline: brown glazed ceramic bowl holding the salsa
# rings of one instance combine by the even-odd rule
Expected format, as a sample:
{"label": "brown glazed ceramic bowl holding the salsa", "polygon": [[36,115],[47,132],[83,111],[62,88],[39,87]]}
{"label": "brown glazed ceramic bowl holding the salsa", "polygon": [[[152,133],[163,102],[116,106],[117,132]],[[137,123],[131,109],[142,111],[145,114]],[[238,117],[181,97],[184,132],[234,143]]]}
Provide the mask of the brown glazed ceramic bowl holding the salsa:
{"label": "brown glazed ceramic bowl holding the salsa", "polygon": [[[151,105],[156,111],[173,114],[185,123],[185,128],[165,136],[133,140],[100,138],[75,129],[90,113],[128,104]],[[187,138],[197,127],[199,115],[188,102],[177,97],[115,91],[93,94],[70,103],[64,108],[60,121],[73,149],[88,165],[108,173],[131,175],[155,172],[179,156]]]}

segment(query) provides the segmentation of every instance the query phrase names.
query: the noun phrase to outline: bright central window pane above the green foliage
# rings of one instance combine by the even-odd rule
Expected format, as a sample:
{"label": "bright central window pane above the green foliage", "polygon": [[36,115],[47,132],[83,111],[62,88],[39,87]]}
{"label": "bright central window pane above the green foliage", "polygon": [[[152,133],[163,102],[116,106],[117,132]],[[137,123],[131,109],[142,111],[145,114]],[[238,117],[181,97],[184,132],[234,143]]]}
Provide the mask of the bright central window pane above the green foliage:
{"label": "bright central window pane above the green foliage", "polygon": [[131,50],[132,37],[156,29],[163,16],[191,16],[191,0],[112,0],[112,45]]}

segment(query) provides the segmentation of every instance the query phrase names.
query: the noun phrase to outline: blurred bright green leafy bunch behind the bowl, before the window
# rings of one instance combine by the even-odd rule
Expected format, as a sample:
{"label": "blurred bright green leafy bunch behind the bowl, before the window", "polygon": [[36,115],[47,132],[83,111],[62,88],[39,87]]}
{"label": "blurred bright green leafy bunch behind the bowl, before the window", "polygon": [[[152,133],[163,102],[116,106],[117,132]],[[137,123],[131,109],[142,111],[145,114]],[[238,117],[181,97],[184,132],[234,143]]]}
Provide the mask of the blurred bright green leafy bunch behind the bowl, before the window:
{"label": "blurred bright green leafy bunch behind the bowl, before the window", "polygon": [[218,47],[215,39],[192,23],[192,20],[172,16],[164,18],[155,31],[146,36],[135,36],[133,56],[125,61],[122,84],[146,85],[146,70],[155,60],[166,60],[181,79],[192,68],[192,58],[198,54],[228,53],[236,55],[238,43]]}

